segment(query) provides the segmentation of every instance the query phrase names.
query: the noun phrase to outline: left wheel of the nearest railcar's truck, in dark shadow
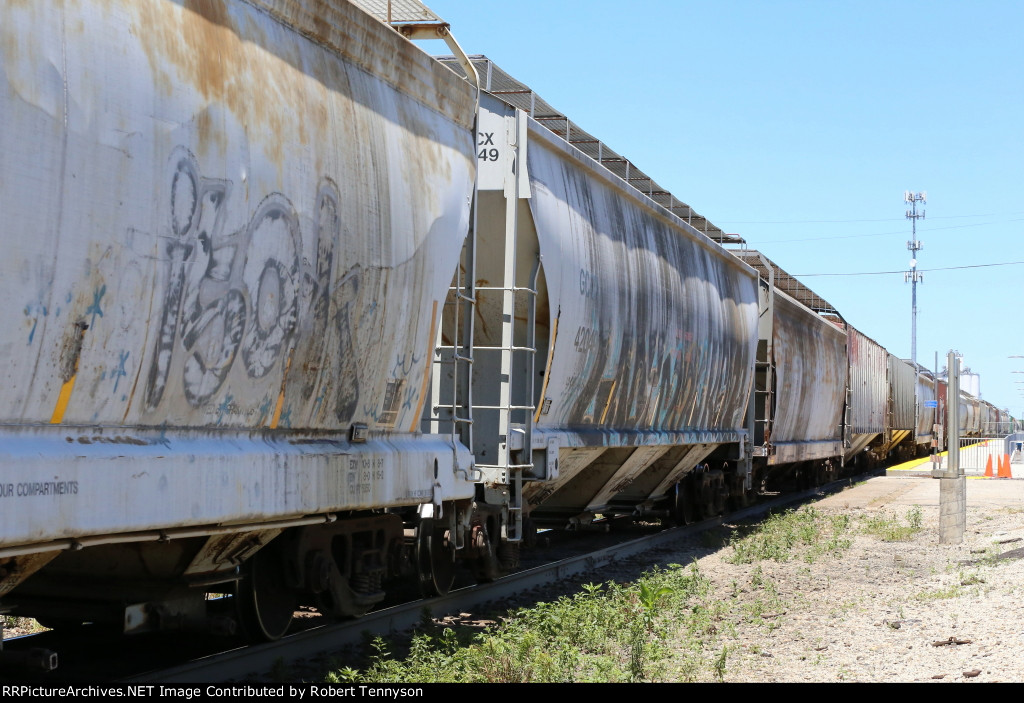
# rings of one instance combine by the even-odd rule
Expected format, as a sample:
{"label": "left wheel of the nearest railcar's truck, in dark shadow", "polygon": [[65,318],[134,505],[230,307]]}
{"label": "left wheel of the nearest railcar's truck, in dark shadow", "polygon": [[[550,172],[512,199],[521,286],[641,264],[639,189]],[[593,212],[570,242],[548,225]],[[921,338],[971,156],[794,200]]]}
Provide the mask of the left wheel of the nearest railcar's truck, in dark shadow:
{"label": "left wheel of the nearest railcar's truck, in dark shadow", "polygon": [[285,565],[273,543],[246,562],[246,577],[236,584],[239,624],[249,640],[280,640],[292,624],[298,603],[285,583]]}

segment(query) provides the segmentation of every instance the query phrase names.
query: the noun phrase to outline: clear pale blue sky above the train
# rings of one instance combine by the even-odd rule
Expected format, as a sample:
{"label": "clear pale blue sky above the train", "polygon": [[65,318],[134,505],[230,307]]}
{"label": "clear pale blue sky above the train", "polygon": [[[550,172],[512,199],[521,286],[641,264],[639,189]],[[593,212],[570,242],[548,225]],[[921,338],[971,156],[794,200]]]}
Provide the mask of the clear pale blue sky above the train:
{"label": "clear pale blue sky above the train", "polygon": [[[908,268],[918,359],[1024,415],[1024,2],[428,0],[489,56],[794,274]],[[446,51],[443,45],[425,45]],[[910,356],[902,273],[807,276]]]}

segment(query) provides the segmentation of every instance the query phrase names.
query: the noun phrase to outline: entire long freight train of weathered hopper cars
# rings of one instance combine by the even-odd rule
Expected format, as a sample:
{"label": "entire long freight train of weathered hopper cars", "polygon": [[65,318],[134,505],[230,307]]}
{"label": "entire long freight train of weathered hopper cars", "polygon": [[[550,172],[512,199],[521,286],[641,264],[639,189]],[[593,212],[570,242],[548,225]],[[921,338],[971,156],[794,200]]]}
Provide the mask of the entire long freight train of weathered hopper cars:
{"label": "entire long freight train of weathered hopper cars", "polygon": [[931,443],[936,379],[424,33],[0,9],[0,612],[275,639]]}

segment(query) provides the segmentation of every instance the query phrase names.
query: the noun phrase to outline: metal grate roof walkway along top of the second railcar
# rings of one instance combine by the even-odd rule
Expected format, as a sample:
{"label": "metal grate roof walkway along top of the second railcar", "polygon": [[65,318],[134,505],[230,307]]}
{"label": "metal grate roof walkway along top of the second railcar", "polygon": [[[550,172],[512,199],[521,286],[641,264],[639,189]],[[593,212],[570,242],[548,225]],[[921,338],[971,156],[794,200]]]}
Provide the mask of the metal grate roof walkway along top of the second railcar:
{"label": "metal grate roof walkway along top of the second railcar", "polygon": [[[469,58],[480,76],[480,86],[483,90],[526,112],[531,118],[547,127],[552,134],[572,144],[633,188],[715,241],[719,244],[743,243],[738,234],[727,234],[721,227],[714,225],[707,217],[698,214],[693,208],[654,182],[653,178],[637,168],[632,161],[610,148],[590,132],[582,129],[564,113],[555,109],[551,103],[535,93],[529,86],[502,71],[493,60],[481,54]],[[466,73],[459,65],[455,56],[438,56],[437,60],[458,75],[465,77]]]}

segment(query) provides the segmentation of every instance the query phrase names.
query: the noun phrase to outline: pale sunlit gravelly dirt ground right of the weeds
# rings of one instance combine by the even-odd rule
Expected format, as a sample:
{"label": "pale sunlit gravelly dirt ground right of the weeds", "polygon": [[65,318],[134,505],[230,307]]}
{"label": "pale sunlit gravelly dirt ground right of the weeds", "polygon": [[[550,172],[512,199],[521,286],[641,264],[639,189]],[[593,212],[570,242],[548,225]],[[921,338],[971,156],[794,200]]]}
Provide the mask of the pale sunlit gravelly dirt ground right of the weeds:
{"label": "pale sunlit gravelly dirt ground right of the weeds", "polygon": [[[815,508],[851,517],[841,556],[732,564],[725,546],[669,557],[695,557],[746,612],[760,599],[760,617],[738,619],[708,648],[727,657],[702,678],[1024,682],[1024,480],[968,479],[962,544],[939,544],[935,479],[872,478]],[[921,529],[905,540],[865,529],[914,514]]]}

